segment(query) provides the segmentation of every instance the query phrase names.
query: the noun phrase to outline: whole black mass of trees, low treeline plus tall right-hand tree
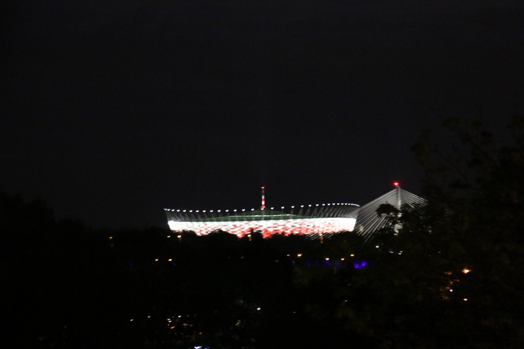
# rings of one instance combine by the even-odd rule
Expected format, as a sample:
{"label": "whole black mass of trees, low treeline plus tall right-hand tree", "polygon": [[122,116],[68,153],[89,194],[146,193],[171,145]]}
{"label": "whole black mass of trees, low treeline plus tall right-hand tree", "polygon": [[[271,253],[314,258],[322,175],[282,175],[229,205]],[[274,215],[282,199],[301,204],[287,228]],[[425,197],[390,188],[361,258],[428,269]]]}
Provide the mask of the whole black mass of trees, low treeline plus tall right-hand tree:
{"label": "whole black mass of trees, low treeline plus tall right-hand tree", "polygon": [[[20,348],[523,348],[524,118],[423,135],[423,207],[366,243],[89,230],[0,195],[2,341]],[[447,144],[446,144],[447,145]],[[444,151],[444,153],[442,152]]]}

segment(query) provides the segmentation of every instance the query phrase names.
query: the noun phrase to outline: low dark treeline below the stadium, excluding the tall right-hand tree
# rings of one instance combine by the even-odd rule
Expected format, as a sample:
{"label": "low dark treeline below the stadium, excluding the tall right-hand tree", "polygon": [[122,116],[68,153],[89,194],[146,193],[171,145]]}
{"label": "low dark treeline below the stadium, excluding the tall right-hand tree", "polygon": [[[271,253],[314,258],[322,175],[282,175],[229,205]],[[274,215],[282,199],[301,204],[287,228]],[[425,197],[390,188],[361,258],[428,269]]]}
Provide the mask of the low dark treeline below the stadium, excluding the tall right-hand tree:
{"label": "low dark treeline below the stadium, excluding the tall right-hand tree", "polygon": [[[331,309],[358,237],[90,230],[1,194],[10,343],[36,348],[298,348],[368,339]],[[353,255],[353,257],[351,257]],[[362,253],[361,253],[362,255]],[[328,313],[326,313],[328,312]]]}

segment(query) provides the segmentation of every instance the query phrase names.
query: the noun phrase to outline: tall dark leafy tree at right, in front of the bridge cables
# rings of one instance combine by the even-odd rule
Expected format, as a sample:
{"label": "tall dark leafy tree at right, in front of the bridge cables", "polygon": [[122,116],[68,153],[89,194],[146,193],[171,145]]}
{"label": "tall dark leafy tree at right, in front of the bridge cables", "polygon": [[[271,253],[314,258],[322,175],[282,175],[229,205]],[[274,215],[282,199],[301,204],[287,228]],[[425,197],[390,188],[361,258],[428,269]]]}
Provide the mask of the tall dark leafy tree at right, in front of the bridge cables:
{"label": "tall dark leafy tree at right, in front of the bridge cables", "polygon": [[[358,274],[344,315],[386,347],[523,346],[524,118],[495,144],[478,121],[447,120],[451,154],[424,135],[428,205],[379,208],[373,272]],[[357,314],[357,315],[355,315]],[[373,314],[380,321],[369,320]]]}

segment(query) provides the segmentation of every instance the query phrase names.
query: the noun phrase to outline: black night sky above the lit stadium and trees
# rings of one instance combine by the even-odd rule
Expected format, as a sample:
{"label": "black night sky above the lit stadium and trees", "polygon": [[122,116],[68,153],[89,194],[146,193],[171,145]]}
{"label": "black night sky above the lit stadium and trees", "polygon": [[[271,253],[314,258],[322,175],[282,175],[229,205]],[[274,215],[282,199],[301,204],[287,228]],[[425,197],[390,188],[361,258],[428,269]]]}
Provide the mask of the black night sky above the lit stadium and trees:
{"label": "black night sky above the lit stadium and trees", "polygon": [[94,227],[417,193],[424,128],[524,111],[523,1],[0,6],[0,191]]}

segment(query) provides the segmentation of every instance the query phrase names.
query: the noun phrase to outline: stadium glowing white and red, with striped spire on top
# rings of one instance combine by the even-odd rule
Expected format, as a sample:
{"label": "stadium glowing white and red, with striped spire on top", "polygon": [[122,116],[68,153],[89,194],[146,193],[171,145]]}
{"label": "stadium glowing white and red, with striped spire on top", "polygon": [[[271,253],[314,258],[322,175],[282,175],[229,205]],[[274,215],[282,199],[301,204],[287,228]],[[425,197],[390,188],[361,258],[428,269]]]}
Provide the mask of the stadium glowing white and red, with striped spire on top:
{"label": "stadium glowing white and red, with striped spire on top", "polygon": [[310,204],[266,209],[264,188],[260,209],[165,209],[173,232],[192,231],[196,235],[224,231],[244,237],[260,232],[263,237],[280,235],[318,235],[352,231],[358,205],[347,203]]}

